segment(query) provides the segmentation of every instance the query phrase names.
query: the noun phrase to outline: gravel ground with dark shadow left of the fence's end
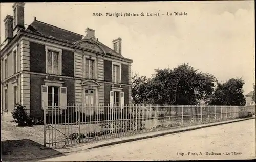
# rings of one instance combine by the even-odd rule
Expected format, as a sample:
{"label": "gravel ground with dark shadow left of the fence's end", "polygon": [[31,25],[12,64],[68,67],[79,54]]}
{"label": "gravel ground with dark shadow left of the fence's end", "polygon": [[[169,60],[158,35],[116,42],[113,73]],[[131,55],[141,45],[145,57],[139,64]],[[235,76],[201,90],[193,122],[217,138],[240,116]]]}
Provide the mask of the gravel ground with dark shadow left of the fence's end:
{"label": "gravel ground with dark shadow left of the fence's end", "polygon": [[1,121],[1,144],[5,150],[2,152],[3,161],[35,161],[58,153],[53,149],[41,150],[43,143],[42,126],[17,127],[15,123]]}

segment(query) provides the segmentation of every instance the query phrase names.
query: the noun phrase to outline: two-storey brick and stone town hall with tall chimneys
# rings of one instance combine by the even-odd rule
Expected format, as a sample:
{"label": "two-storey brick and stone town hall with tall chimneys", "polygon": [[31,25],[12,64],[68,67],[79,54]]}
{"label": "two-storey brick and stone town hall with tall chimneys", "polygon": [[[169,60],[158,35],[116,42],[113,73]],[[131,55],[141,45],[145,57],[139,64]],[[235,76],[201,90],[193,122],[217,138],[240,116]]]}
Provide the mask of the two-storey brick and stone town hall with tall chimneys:
{"label": "two-storey brick and stone town hall with tall chimneys", "polygon": [[[34,21],[25,28],[25,3],[14,3],[4,19],[1,56],[1,109],[11,114],[15,103],[31,116],[47,105],[130,104],[131,64],[122,56],[122,39],[109,48],[87,28],[84,35]],[[106,31],[108,32],[108,31]]]}

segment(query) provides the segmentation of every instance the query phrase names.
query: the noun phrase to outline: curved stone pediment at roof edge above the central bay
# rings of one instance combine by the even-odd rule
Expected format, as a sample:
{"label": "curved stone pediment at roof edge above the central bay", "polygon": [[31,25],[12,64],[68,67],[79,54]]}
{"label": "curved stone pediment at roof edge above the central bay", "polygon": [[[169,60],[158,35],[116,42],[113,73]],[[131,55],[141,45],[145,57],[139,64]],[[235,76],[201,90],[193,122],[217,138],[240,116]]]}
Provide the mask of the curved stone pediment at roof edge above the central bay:
{"label": "curved stone pediment at roof edge above the central bay", "polygon": [[93,39],[82,39],[76,42],[75,46],[105,54],[105,51],[103,50],[103,48]]}

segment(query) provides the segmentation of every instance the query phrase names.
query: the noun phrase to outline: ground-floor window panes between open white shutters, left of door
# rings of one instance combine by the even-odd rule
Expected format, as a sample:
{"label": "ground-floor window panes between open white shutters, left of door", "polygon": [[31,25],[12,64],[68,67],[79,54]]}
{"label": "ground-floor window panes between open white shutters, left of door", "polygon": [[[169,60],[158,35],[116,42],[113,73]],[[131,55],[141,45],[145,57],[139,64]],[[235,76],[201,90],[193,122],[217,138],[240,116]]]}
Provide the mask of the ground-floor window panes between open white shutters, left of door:
{"label": "ground-floor window panes between open white shutters, left of door", "polygon": [[59,106],[59,87],[48,86],[48,105]]}

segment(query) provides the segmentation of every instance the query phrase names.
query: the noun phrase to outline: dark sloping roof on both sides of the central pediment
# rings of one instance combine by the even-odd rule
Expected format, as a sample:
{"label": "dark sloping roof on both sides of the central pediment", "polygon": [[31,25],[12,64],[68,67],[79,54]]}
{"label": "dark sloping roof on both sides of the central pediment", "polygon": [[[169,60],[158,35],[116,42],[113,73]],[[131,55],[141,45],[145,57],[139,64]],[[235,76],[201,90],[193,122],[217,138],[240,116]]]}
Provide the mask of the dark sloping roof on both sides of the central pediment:
{"label": "dark sloping roof on both sides of the central pediment", "polygon": [[[37,34],[41,34],[47,37],[52,37],[58,40],[66,41],[69,43],[75,43],[81,40],[83,37],[83,35],[80,35],[62,28],[58,28],[57,26],[53,26],[51,24],[41,22],[38,20],[34,20],[26,30],[30,32],[35,32]],[[102,48],[105,50],[106,53],[109,53],[117,57],[125,58],[120,54],[118,54],[117,52],[115,52],[113,49],[104,45],[103,43],[99,41],[97,42],[102,46]]]}

